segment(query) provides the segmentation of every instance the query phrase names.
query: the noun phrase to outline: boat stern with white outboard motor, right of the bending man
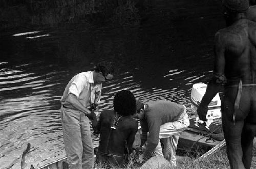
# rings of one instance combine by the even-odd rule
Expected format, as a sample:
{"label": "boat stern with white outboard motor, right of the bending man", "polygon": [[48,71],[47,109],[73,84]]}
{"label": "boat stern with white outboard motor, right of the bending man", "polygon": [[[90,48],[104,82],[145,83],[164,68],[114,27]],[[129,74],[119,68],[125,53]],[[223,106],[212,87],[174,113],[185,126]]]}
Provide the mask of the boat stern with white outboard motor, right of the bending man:
{"label": "boat stern with white outboard motor, right of the bending man", "polygon": [[[197,107],[199,106],[203,95],[205,94],[207,85],[204,83],[195,83],[191,89],[190,101],[190,125],[181,133],[177,149],[181,151],[191,152],[202,155],[216,146],[223,145],[224,135],[221,123],[221,100],[217,94],[208,105],[206,119],[212,121],[209,126],[206,123],[198,123]],[[193,116],[196,115],[196,116]]]}

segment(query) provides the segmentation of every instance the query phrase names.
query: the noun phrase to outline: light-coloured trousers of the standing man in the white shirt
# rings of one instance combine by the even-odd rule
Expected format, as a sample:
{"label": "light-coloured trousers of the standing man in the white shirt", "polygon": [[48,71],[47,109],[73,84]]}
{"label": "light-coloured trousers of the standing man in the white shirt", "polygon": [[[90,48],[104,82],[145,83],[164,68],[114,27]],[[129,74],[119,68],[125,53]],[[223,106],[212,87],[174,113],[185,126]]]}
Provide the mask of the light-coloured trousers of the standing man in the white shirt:
{"label": "light-coloured trousers of the standing man in the white shirt", "polygon": [[93,168],[94,149],[88,117],[79,110],[62,106],[60,117],[69,168]]}

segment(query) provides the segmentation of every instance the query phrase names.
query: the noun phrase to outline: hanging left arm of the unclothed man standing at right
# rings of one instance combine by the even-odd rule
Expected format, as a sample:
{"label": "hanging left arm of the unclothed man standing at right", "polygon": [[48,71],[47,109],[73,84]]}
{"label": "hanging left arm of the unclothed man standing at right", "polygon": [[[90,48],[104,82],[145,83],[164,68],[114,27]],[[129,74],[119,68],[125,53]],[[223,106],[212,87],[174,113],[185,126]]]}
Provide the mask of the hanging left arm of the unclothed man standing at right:
{"label": "hanging left arm of the unclothed man standing at right", "polygon": [[208,104],[215,97],[218,92],[223,91],[223,84],[226,83],[224,75],[225,70],[225,43],[223,43],[220,33],[215,36],[215,63],[214,74],[208,82],[206,92],[197,109],[199,118],[206,121],[206,114],[208,111]]}

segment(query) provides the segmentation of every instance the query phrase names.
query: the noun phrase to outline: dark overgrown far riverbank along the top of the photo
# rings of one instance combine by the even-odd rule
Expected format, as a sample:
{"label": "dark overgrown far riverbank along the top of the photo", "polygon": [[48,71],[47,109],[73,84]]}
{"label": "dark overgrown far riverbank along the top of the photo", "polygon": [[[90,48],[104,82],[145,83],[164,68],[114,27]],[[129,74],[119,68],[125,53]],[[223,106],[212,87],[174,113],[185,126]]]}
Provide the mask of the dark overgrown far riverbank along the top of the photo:
{"label": "dark overgrown far riverbank along the top of the photo", "polygon": [[[200,6],[218,5],[221,10],[220,4],[219,0],[206,0],[203,4],[200,3]],[[163,8],[158,8],[159,5]],[[173,6],[172,10],[164,11],[168,6]],[[195,1],[184,4],[176,0],[2,0],[0,1],[0,32],[11,29],[48,29],[73,24],[134,26],[153,15],[159,16],[159,12],[164,14],[163,17],[170,16],[173,19],[184,20],[190,16],[181,16],[179,12],[186,6],[191,7],[191,10],[197,8]],[[160,11],[154,11],[154,9],[160,9]],[[188,14],[195,14],[195,11],[190,12]],[[211,13],[210,10],[208,12]]]}

